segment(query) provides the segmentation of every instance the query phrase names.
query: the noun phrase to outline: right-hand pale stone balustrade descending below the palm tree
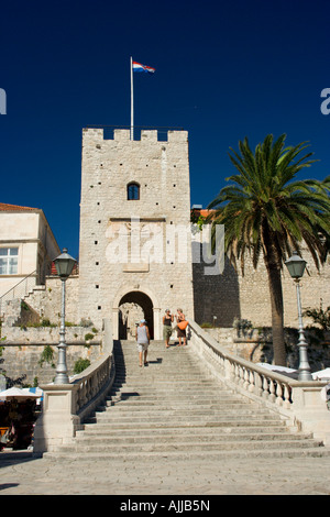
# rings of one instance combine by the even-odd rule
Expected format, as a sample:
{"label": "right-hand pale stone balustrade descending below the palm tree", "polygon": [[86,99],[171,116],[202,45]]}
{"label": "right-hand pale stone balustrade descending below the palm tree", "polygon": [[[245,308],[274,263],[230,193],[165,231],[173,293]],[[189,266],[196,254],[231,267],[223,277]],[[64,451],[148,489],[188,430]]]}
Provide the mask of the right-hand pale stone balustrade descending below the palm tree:
{"label": "right-hand pale stone balustrade descending below the palm tree", "polygon": [[189,344],[201,363],[229,387],[279,413],[289,426],[312,432],[330,444],[330,411],[321,397],[327,382],[300,382],[272,372],[222,348],[197,323],[189,323]]}

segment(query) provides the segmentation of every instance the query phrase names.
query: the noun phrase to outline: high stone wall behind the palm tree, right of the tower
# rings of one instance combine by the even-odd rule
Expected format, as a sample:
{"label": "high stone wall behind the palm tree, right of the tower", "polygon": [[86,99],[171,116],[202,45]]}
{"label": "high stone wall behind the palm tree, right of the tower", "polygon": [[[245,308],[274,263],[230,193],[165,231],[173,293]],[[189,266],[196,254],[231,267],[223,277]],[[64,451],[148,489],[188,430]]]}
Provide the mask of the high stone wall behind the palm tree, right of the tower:
{"label": "high stone wall behind the palm tree, right of the tower", "polygon": [[[194,243],[193,245],[196,245]],[[302,310],[318,309],[322,304],[326,309],[330,306],[330,263],[317,271],[308,250],[304,249],[301,256],[307,261],[307,270],[300,280]],[[235,318],[248,319],[254,327],[272,324],[271,299],[266,268],[261,257],[257,270],[254,270],[249,256],[245,257],[244,275],[235,271],[226,257],[224,270],[219,275],[207,276],[205,264],[193,264],[195,320],[197,323],[217,327],[232,327]],[[282,273],[284,297],[284,324],[298,326],[296,285],[286,266]],[[304,319],[305,324],[311,321]]]}

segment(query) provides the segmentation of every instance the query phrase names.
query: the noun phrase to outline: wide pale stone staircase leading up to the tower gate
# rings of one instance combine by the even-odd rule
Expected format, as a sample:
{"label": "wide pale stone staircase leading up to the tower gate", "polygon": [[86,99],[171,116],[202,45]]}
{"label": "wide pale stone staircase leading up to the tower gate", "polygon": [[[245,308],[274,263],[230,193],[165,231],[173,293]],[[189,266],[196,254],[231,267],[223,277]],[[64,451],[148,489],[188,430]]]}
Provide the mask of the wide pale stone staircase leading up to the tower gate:
{"label": "wide pale stone staircase leading up to the tower gate", "polygon": [[87,460],[320,457],[329,449],[275,413],[232,393],[200,367],[190,346],[114,344],[117,376],[75,442],[46,457]]}

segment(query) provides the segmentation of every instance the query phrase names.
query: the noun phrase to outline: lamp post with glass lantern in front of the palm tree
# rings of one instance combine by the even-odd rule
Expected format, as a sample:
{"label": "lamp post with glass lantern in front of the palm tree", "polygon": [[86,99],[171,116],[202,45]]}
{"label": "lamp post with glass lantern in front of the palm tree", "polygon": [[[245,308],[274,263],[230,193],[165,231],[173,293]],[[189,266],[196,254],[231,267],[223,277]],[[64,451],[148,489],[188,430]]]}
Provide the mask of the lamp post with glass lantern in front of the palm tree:
{"label": "lamp post with glass lantern in front of the palm tree", "polygon": [[288,268],[290,276],[294,278],[297,288],[297,305],[298,305],[298,319],[299,319],[299,340],[298,340],[298,348],[299,348],[299,381],[312,381],[312,376],[310,373],[310,366],[308,363],[307,356],[307,346],[308,343],[305,339],[304,333],[304,326],[302,326],[302,314],[301,314],[301,299],[300,299],[300,278],[304,275],[306,261],[298,255],[297,252],[294,252],[293,256],[290,256],[287,261],[285,261],[285,265]]}

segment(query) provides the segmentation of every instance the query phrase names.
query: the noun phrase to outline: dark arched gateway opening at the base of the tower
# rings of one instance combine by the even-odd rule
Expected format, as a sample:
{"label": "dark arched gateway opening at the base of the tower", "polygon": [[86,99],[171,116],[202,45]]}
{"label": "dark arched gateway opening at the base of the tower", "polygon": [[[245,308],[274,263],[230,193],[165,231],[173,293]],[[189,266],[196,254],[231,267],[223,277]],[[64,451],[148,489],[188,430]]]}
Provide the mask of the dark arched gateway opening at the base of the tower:
{"label": "dark arched gateway opening at the base of the tower", "polygon": [[146,320],[151,339],[154,339],[154,311],[151,298],[139,290],[125,294],[119,302],[119,339],[132,339],[135,334],[133,326],[142,318]]}

